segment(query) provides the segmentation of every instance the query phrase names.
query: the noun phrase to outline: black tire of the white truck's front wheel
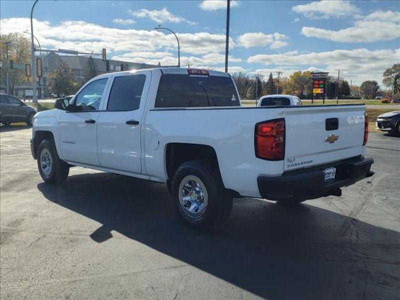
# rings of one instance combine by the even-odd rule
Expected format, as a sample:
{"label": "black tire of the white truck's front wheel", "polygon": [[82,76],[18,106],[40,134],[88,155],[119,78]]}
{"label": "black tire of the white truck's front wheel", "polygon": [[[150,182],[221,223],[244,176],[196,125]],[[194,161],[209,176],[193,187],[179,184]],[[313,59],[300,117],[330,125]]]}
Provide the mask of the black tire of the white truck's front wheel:
{"label": "black tire of the white truck's front wheel", "polygon": [[[44,171],[42,168],[42,152],[43,155],[50,156],[51,167]],[[68,164],[58,157],[54,141],[51,139],[43,139],[37,148],[37,168],[44,182],[50,184],[60,183],[66,180],[69,173]]]}

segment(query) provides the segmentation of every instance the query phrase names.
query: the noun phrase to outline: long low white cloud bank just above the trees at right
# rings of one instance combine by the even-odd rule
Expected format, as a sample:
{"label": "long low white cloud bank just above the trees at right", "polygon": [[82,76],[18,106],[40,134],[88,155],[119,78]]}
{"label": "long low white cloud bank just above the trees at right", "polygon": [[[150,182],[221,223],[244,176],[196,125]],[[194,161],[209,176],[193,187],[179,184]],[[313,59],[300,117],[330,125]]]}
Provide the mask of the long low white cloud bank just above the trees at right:
{"label": "long low white cloud bank just above the trees at right", "polygon": [[383,71],[399,60],[400,48],[393,50],[337,49],[308,53],[289,51],[280,54],[257,54],[247,58],[248,63],[285,66],[290,69],[303,69],[312,66],[334,74],[337,73],[337,70],[340,70],[340,74],[345,79],[352,79],[355,83],[361,83],[367,79],[380,82]]}

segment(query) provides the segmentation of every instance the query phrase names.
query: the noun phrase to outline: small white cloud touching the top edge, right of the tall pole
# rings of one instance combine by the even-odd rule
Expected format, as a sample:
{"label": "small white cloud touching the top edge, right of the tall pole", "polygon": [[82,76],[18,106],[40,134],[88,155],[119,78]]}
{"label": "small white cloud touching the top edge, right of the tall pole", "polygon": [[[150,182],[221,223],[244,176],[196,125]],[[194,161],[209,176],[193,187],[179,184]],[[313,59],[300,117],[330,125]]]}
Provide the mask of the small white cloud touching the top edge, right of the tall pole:
{"label": "small white cloud touching the top edge, right of the tall pole", "polygon": [[343,17],[360,12],[358,7],[344,0],[313,1],[293,6],[291,9],[310,18]]}

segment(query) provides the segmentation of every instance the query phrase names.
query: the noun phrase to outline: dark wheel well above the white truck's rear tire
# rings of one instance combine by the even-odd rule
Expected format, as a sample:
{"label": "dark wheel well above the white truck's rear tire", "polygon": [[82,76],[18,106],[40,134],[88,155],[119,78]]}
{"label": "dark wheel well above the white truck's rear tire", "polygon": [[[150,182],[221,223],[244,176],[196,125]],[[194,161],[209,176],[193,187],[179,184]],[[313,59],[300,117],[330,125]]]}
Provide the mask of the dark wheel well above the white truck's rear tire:
{"label": "dark wheel well above the white truck's rear tire", "polygon": [[218,164],[213,147],[191,143],[169,143],[166,146],[166,173],[171,178],[175,170],[185,161],[194,159],[211,159]]}

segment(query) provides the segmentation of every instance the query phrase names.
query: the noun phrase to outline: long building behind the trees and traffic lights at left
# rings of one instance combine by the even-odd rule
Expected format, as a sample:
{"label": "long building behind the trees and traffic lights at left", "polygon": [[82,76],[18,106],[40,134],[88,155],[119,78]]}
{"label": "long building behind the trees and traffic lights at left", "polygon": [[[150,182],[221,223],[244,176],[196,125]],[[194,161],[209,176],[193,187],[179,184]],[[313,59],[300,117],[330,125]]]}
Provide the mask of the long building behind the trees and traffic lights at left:
{"label": "long building behind the trees and traffic lights at left", "polygon": [[[40,57],[40,56],[36,56]],[[94,63],[97,66],[98,74],[106,73],[106,62],[101,58],[92,56]],[[41,82],[43,83],[44,97],[50,97],[51,90],[47,88],[48,76],[54,72],[54,70],[60,65],[60,63],[66,63],[75,74],[75,80],[83,83],[85,81],[85,66],[89,56],[81,55],[58,55],[55,52],[49,52],[48,54],[42,55],[42,75]],[[116,72],[120,71],[121,67],[123,70],[135,70],[143,68],[157,67],[154,64],[137,63],[130,61],[108,59],[109,71]],[[21,70],[24,71],[24,70]],[[0,92],[5,92],[5,86],[0,86]],[[32,96],[32,85],[30,82],[21,82],[19,85],[14,86],[14,95],[20,98]],[[40,82],[37,84],[37,96],[41,97]]]}

